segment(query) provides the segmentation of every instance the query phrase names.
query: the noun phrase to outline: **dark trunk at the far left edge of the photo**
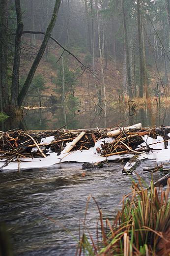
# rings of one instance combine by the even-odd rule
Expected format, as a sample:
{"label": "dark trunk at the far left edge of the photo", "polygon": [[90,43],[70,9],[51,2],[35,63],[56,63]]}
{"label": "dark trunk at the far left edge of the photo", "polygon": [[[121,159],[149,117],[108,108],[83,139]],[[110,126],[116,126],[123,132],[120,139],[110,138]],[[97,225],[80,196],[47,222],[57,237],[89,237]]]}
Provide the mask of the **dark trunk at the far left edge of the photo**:
{"label": "dark trunk at the far left edge of the photo", "polygon": [[7,4],[8,0],[0,0],[0,103],[4,111],[9,104],[9,89],[7,84]]}

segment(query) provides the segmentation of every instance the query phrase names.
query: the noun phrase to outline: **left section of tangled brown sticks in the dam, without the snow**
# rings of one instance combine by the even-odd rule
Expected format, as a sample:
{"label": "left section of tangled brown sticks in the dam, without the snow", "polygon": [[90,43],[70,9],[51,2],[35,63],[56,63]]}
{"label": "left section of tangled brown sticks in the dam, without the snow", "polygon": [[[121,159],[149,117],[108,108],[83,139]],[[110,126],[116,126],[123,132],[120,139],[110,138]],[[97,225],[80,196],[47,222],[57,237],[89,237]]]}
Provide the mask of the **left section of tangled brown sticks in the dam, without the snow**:
{"label": "left section of tangled brown sticks in the dam, without the snow", "polygon": [[[19,158],[47,157],[48,150],[56,152],[58,155],[64,150],[66,143],[74,141],[82,133],[80,130],[57,130],[57,131],[23,131],[10,130],[0,133],[0,159],[18,156]],[[42,138],[54,136],[50,143],[41,143]],[[103,136],[102,136],[103,137]],[[75,144],[74,150],[87,150],[94,147],[96,140],[101,138],[98,131],[86,130],[83,137]],[[41,147],[44,147],[42,150]],[[31,152],[33,147],[37,151]]]}

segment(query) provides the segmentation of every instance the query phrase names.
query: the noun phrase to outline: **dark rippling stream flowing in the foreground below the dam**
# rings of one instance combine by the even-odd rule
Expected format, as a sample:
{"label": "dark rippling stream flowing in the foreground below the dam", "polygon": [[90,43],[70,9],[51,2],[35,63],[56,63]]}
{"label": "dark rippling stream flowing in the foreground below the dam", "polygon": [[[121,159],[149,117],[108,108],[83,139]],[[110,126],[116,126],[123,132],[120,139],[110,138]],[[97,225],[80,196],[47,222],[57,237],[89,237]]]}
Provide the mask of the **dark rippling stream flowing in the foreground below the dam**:
{"label": "dark rippling stream flowing in the foreground below the dam", "polygon": [[[156,163],[142,162],[137,171],[146,184],[151,174],[142,169]],[[50,168],[4,170],[0,173],[0,220],[6,222],[16,256],[73,256],[76,244],[61,226],[35,211],[54,219],[79,240],[83,233],[88,196],[94,196],[104,219],[113,223],[114,211],[124,194],[131,192],[131,180],[122,166],[110,162],[103,168],[82,169],[82,163],[59,163]],[[161,178],[154,174],[154,181]],[[137,180],[136,174],[133,178]],[[89,200],[86,227],[96,240],[97,206]],[[88,235],[87,231],[85,233]],[[65,250],[65,251],[64,251]]]}

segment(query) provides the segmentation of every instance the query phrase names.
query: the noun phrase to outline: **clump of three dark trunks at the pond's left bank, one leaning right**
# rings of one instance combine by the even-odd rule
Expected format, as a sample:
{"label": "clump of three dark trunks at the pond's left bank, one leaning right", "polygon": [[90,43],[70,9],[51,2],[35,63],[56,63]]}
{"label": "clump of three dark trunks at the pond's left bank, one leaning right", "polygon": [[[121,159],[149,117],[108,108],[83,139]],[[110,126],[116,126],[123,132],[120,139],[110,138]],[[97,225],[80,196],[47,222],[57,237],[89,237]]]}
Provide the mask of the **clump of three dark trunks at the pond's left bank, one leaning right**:
{"label": "clump of three dark trunks at the pond's left bank, one leaning right", "polygon": [[[14,114],[22,106],[22,102],[27,95],[28,88],[32,82],[33,76],[37,66],[44,54],[48,40],[51,36],[52,30],[56,24],[60,0],[55,1],[51,21],[44,33],[39,51],[30,67],[26,81],[24,82],[21,91],[19,92],[19,67],[20,67],[20,50],[21,50],[21,37],[23,34],[23,21],[21,12],[20,0],[15,0],[15,10],[17,16],[17,29],[15,32],[14,43],[14,61],[12,70],[12,81],[9,85],[7,79],[7,37],[9,30],[7,27],[7,5],[8,0],[0,0],[0,111],[7,114]],[[11,111],[12,110],[12,111]]]}

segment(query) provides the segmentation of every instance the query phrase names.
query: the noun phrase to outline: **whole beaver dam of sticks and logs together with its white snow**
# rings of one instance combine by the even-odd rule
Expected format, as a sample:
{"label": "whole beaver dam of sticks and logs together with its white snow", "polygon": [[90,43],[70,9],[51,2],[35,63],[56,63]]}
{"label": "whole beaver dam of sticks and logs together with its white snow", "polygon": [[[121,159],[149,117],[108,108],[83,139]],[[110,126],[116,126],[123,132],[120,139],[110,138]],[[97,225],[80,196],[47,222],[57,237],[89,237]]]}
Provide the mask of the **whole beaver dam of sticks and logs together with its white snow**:
{"label": "whole beaver dam of sticks and logs together with its white snow", "polygon": [[169,142],[169,127],[142,128],[141,123],[112,129],[1,131],[0,170],[61,161],[83,162],[90,168],[112,160],[127,162],[122,171],[132,172],[141,160],[169,161]]}

